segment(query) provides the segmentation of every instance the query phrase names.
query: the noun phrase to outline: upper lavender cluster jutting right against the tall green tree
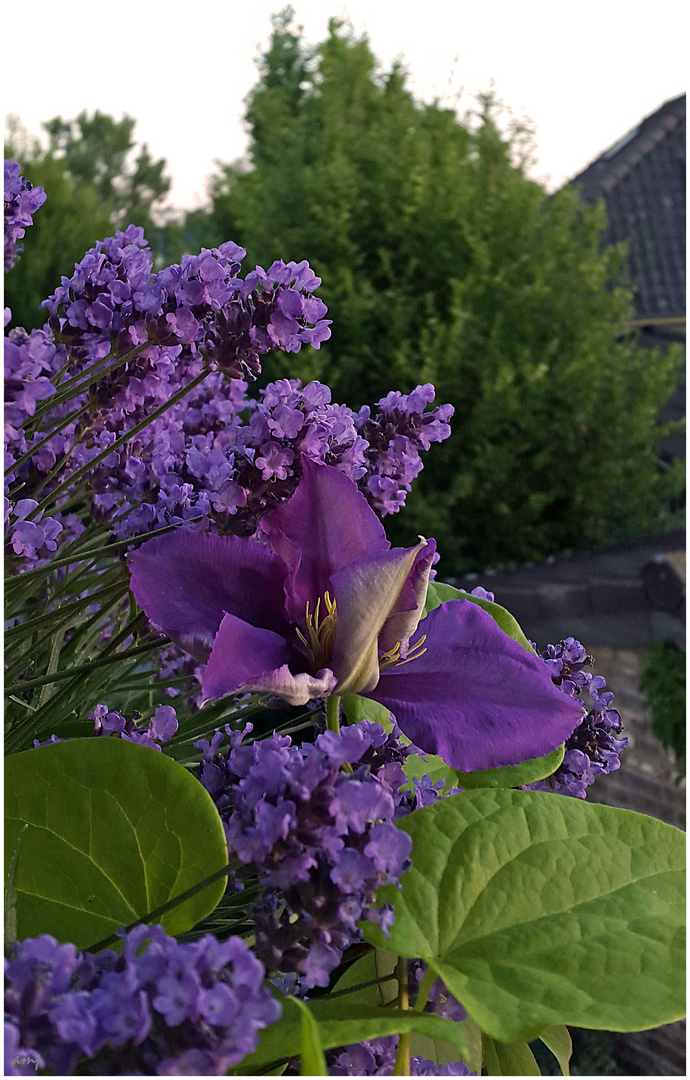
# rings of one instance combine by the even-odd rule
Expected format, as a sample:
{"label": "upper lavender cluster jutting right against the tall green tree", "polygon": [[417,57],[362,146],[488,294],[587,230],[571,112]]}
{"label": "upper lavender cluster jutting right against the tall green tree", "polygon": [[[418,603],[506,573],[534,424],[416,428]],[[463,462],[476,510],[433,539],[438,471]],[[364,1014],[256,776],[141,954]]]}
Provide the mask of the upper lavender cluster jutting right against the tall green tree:
{"label": "upper lavender cluster jutting right against the tall green tree", "polygon": [[243,280],[245,255],[228,241],[152,275],[144,230],[131,225],[86,252],[73,275],[43,301],[51,329],[77,361],[144,347],[124,375],[118,370],[99,383],[102,405],[113,418],[144,409],[194,360],[231,378],[254,378],[270,349],[317,349],[330,336],[326,306],[312,295],[321,279],[308,262],[279,259]]}

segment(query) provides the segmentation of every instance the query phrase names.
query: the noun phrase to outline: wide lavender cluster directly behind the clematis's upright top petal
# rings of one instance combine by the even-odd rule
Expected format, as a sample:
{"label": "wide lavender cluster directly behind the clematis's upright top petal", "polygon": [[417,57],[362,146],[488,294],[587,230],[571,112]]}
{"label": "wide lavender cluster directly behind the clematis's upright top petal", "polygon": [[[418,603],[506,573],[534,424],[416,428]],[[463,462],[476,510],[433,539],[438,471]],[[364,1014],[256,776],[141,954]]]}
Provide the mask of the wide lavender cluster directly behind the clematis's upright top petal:
{"label": "wide lavender cluster directly behind the clematis's upright top petal", "polygon": [[[108,468],[92,475],[103,512],[118,503],[118,492],[135,507],[114,524],[119,536],[199,517],[209,517],[224,532],[251,536],[261,517],[294,492],[302,455],[343,472],[374,509],[394,513],[422,469],[420,449],[450,433],[439,417],[449,416],[451,406],[428,413],[381,408],[377,416],[385,421],[371,421],[368,409],[355,414],[332,404],[330,390],[321,382],[302,387],[299,379],[281,379],[269,383],[258,402],[246,399],[246,389],[245,382],[211,377],[147,428],[121,456],[119,469],[108,459]],[[428,384],[405,399],[392,396],[423,409],[434,394]],[[397,423],[406,434],[395,433]],[[375,446],[365,430],[375,435]]]}

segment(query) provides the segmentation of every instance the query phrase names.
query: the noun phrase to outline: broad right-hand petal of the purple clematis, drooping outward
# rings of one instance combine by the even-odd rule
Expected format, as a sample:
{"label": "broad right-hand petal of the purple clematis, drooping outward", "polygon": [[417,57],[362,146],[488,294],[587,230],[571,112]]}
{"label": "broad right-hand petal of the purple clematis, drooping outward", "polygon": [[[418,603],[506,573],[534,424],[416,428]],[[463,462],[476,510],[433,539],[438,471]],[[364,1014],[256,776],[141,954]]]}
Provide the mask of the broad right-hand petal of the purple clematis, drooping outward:
{"label": "broad right-hand petal of the purple clematis, drooping outward", "polygon": [[517,765],[563,743],[582,705],[469,600],[447,600],[420,623],[427,652],[381,673],[367,697],[395,714],[421,750],[471,772]]}

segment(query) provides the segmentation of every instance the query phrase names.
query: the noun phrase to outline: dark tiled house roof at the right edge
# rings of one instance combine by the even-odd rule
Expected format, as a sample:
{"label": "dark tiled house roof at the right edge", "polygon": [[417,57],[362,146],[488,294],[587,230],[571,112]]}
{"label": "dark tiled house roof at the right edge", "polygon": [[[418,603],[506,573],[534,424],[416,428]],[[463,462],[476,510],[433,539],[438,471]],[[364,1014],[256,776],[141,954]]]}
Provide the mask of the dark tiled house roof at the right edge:
{"label": "dark tiled house roof at the right edge", "polygon": [[639,319],[686,313],[686,95],[666,102],[574,177],[604,198],[607,244],[630,241]]}

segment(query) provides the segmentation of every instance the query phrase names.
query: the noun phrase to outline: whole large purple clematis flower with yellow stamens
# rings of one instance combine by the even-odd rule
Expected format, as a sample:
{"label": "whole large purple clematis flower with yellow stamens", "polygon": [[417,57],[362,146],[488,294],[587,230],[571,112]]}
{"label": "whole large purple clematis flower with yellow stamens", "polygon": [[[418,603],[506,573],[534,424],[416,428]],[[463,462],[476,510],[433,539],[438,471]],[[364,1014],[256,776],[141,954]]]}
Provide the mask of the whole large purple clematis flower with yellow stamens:
{"label": "whole large purple clematis flower with yellow stamens", "polygon": [[352,481],[302,468],[295,495],[262,519],[265,542],[173,532],[130,555],[137,603],[206,663],[204,696],[253,690],[299,705],[363,694],[464,771],[564,742],[582,706],[486,611],[449,600],[419,625],[434,541],[391,548]]}

